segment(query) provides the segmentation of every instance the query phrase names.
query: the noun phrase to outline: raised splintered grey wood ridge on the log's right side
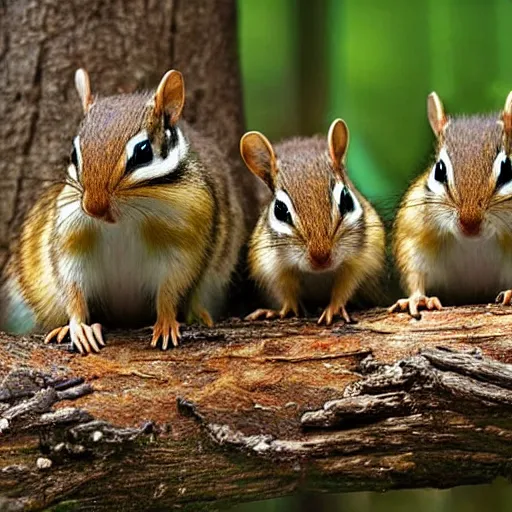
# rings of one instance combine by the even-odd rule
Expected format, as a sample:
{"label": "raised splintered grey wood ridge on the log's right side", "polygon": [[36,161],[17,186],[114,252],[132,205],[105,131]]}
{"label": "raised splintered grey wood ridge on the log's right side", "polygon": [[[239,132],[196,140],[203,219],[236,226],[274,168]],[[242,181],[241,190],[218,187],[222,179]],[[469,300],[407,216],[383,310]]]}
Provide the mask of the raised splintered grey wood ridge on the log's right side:
{"label": "raised splintered grey wood ridge on the log's right side", "polygon": [[[264,432],[244,434],[236,424],[210,420],[208,409],[202,410],[190,400],[179,398],[178,406],[196,418],[220,445],[284,457],[323,456],[339,451],[340,443],[346,446],[353,429],[361,426],[370,429],[366,445],[384,447],[389,439],[384,442],[376,439],[377,432],[381,439],[386,439],[399,431],[412,434],[413,426],[421,429],[423,443],[429,425],[435,433],[436,444],[450,436],[453,442],[455,434],[450,432],[449,426],[444,433],[436,427],[440,422],[448,422],[450,415],[463,418],[462,425],[455,427],[457,430],[476,428],[474,421],[483,416],[485,409],[497,408],[503,413],[505,408],[512,412],[511,366],[482,358],[475,352],[429,349],[392,365],[375,364],[368,356],[361,366],[365,377],[348,385],[343,398],[330,400],[322,409],[302,414],[300,423],[304,436],[300,438],[279,439]],[[319,434],[320,431],[323,433]],[[356,431],[354,437],[360,438],[361,432]],[[496,436],[504,439],[506,434],[512,432],[499,429]],[[410,448],[407,445],[407,449]],[[346,452],[346,448],[344,450]]]}

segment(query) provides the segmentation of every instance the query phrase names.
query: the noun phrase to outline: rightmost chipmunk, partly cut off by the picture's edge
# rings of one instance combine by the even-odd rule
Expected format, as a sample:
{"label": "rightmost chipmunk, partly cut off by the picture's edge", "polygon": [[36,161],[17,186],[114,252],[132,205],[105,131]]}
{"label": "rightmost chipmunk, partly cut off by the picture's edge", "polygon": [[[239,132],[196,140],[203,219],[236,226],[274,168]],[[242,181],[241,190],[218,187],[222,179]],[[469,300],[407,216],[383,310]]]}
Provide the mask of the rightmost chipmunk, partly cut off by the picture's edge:
{"label": "rightmost chipmunk, partly cut off by the picture's edge", "polygon": [[[390,312],[512,299],[512,92],[501,114],[449,117],[433,92],[435,161],[399,208],[393,249],[409,297]],[[498,293],[500,292],[500,293]],[[432,294],[432,295],[431,295]]]}

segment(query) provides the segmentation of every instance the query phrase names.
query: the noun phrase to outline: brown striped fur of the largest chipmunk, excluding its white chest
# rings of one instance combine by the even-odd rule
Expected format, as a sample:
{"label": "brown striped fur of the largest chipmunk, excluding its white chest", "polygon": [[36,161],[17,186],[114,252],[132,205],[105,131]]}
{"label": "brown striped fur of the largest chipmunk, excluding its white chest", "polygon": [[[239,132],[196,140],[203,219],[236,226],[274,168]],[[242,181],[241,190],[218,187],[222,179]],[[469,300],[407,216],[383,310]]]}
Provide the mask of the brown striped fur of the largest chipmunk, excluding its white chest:
{"label": "brown striped fur of the largest chipmunk, excluding its white chest", "polygon": [[[72,234],[66,232],[64,236],[57,236],[57,199],[60,197],[65,203],[66,195],[70,201],[81,199],[82,208],[89,215],[116,222],[123,220],[116,218],[120,214],[116,205],[129,204],[136,197],[158,199],[160,207],[168,203],[170,208],[179,211],[186,225],[168,226],[158,212],[147,211],[138,226],[140,232],[134,233],[144,240],[149,253],[169,247],[183,249],[180,275],[166,276],[160,288],[161,296],[159,292],[154,298],[156,309],[160,316],[175,315],[179,308],[184,313],[209,320],[203,303],[208,300],[207,308],[215,306],[212,314],[220,312],[224,291],[245,236],[238,185],[223,152],[180,121],[178,126],[189,142],[189,154],[182,162],[178,181],[157,186],[134,184],[130,182],[130,175],[125,175],[127,141],[146,129],[154,152],[159,152],[164,140],[164,112],[171,120],[179,117],[182,101],[166,97],[182,90],[177,76],[176,72],[172,73],[172,87],[159,88],[163,95],[158,100],[159,108],[155,108],[154,92],[94,98],[92,104],[87,104],[78,130],[82,156],[81,170],[77,170],[80,183],[59,184],[41,197],[26,217],[18,249],[8,265],[7,280],[19,287],[23,300],[36,317],[38,328],[53,328],[74,317],[87,322],[91,308],[93,313],[102,310],[105,315],[102,320],[110,325],[126,321],[109,317],[108,305],[102,305],[101,297],[93,300],[82,296],[79,300],[83,290],[63,287],[59,282],[60,259],[83,257],[94,249],[96,241],[96,232],[80,225]],[[215,301],[208,298],[210,289],[216,293]],[[167,304],[167,299],[172,303]],[[190,301],[190,309],[187,301]],[[140,318],[147,319],[148,312],[141,312]],[[137,322],[140,318],[132,320]],[[154,336],[158,339],[157,332],[166,336],[172,327],[175,342],[178,333],[175,319],[168,318],[165,328],[161,318],[159,322],[161,325]]]}

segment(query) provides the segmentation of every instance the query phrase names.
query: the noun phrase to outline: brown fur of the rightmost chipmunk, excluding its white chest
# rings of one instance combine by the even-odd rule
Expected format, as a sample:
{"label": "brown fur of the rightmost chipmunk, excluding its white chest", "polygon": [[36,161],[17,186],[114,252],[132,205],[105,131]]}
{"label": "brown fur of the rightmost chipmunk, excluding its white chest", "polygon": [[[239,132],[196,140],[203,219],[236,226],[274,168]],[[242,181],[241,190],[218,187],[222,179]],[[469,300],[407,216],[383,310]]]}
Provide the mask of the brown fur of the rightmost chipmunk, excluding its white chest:
{"label": "brown fur of the rightmost chipmunk, excluding its white chest", "polygon": [[[430,118],[435,113],[432,110],[429,110]],[[445,122],[441,131],[434,129],[438,136],[435,159],[407,190],[394,225],[393,252],[409,298],[432,293],[432,290],[425,289],[427,275],[420,271],[418,261],[422,261],[423,266],[435,265],[438,252],[442,248],[449,248],[453,241],[449,233],[439,231],[434,223],[436,216],[443,212],[455,212],[461,230],[467,235],[475,235],[479,233],[489,210],[506,207],[503,206],[503,198],[495,200],[496,183],[492,177],[493,164],[505,140],[500,115],[446,117],[442,104],[439,115]],[[449,184],[446,199],[431,200],[425,187],[443,147],[452,163],[454,184]],[[502,240],[504,237],[510,239],[506,234],[499,238]]]}

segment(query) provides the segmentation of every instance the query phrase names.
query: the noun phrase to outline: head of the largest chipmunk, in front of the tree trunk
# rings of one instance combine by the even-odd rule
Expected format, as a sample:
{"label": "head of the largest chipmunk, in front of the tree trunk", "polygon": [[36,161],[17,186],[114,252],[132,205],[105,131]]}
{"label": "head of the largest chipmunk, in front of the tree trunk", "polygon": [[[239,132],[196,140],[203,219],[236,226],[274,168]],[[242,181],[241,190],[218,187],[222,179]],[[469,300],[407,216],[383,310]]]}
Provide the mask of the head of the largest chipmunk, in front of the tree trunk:
{"label": "head of the largest chipmunk, in front of the tree trunk", "polygon": [[94,98],[89,76],[75,74],[84,119],[73,141],[69,178],[81,190],[83,211],[115,222],[128,196],[179,174],[187,143],[176,126],[185,101],[183,77],[168,71],[155,93]]}

